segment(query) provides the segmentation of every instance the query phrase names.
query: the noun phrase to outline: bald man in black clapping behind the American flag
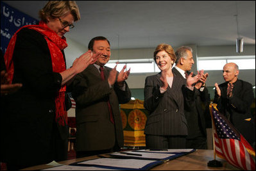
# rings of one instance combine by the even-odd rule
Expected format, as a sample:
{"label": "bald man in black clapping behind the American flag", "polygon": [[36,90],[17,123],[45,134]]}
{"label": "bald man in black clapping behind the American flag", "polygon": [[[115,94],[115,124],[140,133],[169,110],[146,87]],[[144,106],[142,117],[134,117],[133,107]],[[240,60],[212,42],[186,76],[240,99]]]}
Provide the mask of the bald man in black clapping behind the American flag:
{"label": "bald man in black clapping behind the American flag", "polygon": [[254,99],[253,88],[251,83],[237,79],[238,74],[237,64],[226,63],[223,67],[225,83],[215,83],[214,102],[218,104],[218,110],[255,149],[255,120],[250,112]]}

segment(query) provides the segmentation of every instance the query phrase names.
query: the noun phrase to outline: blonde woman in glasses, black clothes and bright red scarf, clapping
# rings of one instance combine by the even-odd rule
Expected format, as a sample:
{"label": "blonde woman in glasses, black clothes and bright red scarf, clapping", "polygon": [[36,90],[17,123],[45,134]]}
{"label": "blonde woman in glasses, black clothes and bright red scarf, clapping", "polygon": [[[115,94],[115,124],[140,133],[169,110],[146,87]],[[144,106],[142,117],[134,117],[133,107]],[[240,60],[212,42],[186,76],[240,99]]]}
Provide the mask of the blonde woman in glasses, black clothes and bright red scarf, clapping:
{"label": "blonde woman in glasses, black clothes and bright red scarf, clapping", "polygon": [[4,61],[10,83],[22,83],[5,95],[1,114],[1,161],[18,170],[67,159],[67,81],[101,54],[82,54],[66,69],[65,33],[80,20],[75,1],[49,1],[38,25],[24,26],[10,40]]}

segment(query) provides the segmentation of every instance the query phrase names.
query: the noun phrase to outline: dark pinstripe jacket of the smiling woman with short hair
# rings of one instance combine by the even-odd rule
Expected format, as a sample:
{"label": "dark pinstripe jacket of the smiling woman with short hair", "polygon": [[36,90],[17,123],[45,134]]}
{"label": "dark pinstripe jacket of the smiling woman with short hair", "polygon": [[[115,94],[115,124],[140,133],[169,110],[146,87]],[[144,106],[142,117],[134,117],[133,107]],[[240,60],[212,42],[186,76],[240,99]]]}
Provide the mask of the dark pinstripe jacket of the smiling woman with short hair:
{"label": "dark pinstripe jacket of the smiling woman with short hair", "polygon": [[[157,75],[146,77],[144,108],[149,111],[149,117],[144,133],[187,135],[187,120],[184,115],[184,94],[191,96],[192,91],[185,88],[183,79],[173,74],[172,88],[168,86],[166,92],[160,94],[160,86],[162,86],[160,76],[161,72]],[[189,102],[189,98],[186,97],[186,99]]]}

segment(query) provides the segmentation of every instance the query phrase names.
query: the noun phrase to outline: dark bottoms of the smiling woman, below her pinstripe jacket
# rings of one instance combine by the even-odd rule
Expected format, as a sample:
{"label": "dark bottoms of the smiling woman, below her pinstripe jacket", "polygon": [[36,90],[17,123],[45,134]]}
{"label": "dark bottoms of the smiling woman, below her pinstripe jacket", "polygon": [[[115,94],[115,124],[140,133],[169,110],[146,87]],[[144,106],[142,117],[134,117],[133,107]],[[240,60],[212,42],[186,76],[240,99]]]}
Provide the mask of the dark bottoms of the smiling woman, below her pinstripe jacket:
{"label": "dark bottoms of the smiling woman, below her pinstripe jacket", "polygon": [[185,149],[186,136],[146,134],[146,149]]}

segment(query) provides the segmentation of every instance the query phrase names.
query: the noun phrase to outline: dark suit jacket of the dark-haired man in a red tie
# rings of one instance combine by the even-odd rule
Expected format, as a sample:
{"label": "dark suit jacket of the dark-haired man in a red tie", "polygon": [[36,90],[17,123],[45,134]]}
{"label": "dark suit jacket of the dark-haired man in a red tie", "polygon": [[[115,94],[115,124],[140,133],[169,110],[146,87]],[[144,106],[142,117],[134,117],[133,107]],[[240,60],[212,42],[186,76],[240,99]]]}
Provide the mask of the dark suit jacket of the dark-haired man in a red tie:
{"label": "dark suit jacket of the dark-haired man in a red tie", "polygon": [[[72,95],[76,101],[76,139],[77,151],[101,151],[111,149],[115,140],[123,147],[123,126],[119,104],[131,99],[131,92],[121,90],[117,83],[114,88],[108,85],[109,67],[105,67],[105,81],[101,80],[99,70],[94,65],[76,75]],[[110,122],[108,104],[110,101],[115,125]]]}

